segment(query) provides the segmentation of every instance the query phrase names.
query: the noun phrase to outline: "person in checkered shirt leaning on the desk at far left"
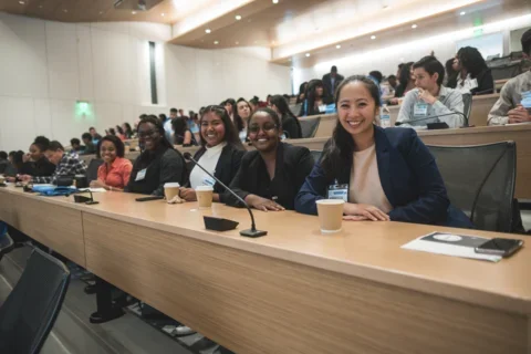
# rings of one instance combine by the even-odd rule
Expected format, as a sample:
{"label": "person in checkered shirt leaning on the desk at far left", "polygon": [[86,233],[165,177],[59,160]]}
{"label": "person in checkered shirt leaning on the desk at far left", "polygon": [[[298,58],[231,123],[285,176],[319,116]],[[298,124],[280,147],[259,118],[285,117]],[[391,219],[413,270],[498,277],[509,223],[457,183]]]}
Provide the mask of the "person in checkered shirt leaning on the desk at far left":
{"label": "person in checkered shirt leaning on the desk at far left", "polygon": [[56,140],[50,143],[44,152],[44,156],[50,163],[56,166],[52,176],[21,175],[19,178],[23,181],[31,181],[33,184],[55,185],[59,177],[73,177],[75,175],[86,174],[86,165],[80,159],[77,154],[65,154],[63,145]]}

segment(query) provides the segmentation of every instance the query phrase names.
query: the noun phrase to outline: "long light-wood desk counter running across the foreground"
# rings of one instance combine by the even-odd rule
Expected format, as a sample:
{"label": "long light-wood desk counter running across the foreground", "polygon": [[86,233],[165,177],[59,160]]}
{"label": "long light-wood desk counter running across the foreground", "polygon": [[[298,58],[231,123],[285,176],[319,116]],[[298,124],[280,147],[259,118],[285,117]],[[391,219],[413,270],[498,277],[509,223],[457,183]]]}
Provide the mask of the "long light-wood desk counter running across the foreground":
{"label": "long light-wood desk counter running across the foreground", "polygon": [[249,227],[247,210],[222,205],[6,195],[40,198],[43,216],[50,206],[81,211],[87,269],[238,353],[530,351],[530,248],[493,264],[399,248],[466,230],[345,222],[341,235],[321,236],[316,217],[256,211],[269,235],[247,239],[205,230],[202,215]]}

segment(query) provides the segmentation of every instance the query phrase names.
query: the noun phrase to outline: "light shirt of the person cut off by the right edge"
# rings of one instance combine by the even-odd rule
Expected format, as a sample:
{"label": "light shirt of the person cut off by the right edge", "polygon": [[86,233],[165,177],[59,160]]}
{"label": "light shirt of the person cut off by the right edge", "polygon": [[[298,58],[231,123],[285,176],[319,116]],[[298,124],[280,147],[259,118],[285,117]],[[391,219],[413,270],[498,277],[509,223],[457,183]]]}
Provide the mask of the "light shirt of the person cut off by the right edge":
{"label": "light shirt of the person cut off by the right edge", "polygon": [[489,125],[508,124],[509,111],[514,110],[520,104],[522,92],[527,91],[531,91],[531,71],[512,77],[501,87],[500,98],[489,113]]}

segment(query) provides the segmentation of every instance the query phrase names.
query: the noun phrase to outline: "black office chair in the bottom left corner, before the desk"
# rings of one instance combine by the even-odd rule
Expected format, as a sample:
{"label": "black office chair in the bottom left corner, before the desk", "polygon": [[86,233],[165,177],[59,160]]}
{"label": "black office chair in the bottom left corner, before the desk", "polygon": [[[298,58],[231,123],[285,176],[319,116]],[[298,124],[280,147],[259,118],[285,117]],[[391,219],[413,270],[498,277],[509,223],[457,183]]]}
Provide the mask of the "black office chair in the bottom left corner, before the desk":
{"label": "black office chair in the bottom left corner, before the desk", "polygon": [[0,308],[0,353],[39,353],[69,289],[70,272],[52,256],[34,249]]}

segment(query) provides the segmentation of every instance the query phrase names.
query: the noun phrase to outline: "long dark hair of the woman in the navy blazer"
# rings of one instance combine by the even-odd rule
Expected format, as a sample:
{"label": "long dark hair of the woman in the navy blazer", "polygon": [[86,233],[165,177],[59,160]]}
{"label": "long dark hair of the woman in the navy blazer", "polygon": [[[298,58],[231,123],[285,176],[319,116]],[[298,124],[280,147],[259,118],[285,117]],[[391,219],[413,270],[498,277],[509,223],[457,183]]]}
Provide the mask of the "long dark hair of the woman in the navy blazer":
{"label": "long dark hair of the woman in the navy blazer", "polygon": [[[353,82],[361,82],[371,93],[371,96],[374,100],[375,107],[379,107],[379,88],[376,83],[367,76],[354,75],[345,79],[335,93],[335,106],[337,107],[337,101],[340,98],[340,93],[347,84]],[[351,134],[345,131],[340,119],[335,124],[334,132],[332,133],[332,138],[326,144],[323,150],[323,157],[321,159],[321,166],[324,169],[326,178],[332,180],[336,178],[340,171],[344,166],[352,164],[352,154],[354,153],[354,139]]]}

